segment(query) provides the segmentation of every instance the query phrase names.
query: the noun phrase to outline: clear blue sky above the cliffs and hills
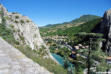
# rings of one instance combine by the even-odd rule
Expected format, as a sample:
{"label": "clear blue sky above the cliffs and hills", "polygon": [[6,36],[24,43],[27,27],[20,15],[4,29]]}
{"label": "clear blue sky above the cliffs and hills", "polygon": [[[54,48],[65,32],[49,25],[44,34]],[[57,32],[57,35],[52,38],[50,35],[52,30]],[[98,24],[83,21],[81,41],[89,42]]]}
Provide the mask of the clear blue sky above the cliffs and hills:
{"label": "clear blue sky above the cliffs and hills", "polygon": [[103,16],[111,0],[0,0],[9,12],[28,16],[38,26],[68,22],[82,15]]}

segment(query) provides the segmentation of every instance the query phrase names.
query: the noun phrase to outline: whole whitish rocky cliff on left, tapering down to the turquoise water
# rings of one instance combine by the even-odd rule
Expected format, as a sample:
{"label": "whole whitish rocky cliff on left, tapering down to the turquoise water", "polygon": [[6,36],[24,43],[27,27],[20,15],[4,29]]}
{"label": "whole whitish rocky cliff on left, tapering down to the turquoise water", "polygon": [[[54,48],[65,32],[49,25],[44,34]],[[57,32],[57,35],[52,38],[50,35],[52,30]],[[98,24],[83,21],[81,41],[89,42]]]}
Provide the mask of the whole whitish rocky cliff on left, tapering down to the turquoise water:
{"label": "whole whitish rocky cliff on left, tapering down to the turquoise water", "polygon": [[17,12],[8,12],[7,9],[0,4],[0,24],[12,31],[11,33],[14,40],[19,44],[19,48],[22,47],[22,49],[24,49],[28,47],[32,50],[38,50],[37,52],[40,52],[45,58],[49,57],[58,63],[42,40],[38,26],[34,24],[30,18]]}

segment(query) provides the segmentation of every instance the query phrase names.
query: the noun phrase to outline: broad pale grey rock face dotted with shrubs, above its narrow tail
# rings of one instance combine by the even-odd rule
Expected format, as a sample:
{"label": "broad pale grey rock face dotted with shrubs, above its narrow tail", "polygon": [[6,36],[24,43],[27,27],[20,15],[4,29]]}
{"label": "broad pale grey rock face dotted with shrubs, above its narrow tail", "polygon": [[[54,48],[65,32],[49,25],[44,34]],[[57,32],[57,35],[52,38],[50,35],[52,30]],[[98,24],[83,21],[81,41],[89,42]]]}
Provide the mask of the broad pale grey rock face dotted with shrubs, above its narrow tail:
{"label": "broad pale grey rock face dotted with shrubs, above its narrow tail", "polygon": [[19,13],[10,13],[3,5],[0,5],[0,12],[3,12],[0,15],[0,23],[2,22],[2,17],[4,17],[6,26],[13,30],[14,38],[20,44],[29,45],[33,50],[37,50],[43,46],[46,47],[37,25],[31,19]]}

